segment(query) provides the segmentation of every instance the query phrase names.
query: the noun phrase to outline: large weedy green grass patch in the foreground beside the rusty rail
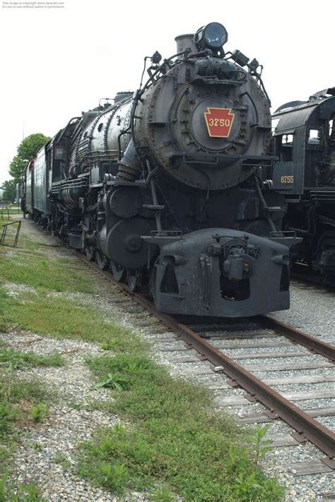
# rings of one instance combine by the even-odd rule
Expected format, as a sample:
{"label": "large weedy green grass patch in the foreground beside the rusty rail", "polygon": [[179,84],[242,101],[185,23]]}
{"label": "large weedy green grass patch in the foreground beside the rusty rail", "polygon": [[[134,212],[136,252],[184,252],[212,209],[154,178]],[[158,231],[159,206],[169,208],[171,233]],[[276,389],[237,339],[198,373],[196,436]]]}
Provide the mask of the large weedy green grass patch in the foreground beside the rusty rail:
{"label": "large weedy green grass patch in the foreground beside the rusty rail", "polygon": [[133,425],[100,430],[84,443],[82,476],[120,495],[159,480],[163,486],[155,492],[162,501],[172,493],[192,502],[281,500],[282,488],[264,476],[258,453],[247,446],[250,434],[213,412],[208,390],[170,377],[143,355],[88,364],[114,389],[108,409]]}

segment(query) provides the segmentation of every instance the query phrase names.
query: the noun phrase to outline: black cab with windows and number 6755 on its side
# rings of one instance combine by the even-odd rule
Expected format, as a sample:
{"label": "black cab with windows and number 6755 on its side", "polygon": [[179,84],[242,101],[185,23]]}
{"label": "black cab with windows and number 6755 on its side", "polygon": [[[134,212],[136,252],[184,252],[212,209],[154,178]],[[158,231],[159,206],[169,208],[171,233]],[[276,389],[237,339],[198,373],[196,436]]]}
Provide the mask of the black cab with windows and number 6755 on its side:
{"label": "black cab with windows and number 6755 on its side", "polygon": [[276,110],[274,189],[296,198],[305,190],[334,185],[334,118],[335,88]]}

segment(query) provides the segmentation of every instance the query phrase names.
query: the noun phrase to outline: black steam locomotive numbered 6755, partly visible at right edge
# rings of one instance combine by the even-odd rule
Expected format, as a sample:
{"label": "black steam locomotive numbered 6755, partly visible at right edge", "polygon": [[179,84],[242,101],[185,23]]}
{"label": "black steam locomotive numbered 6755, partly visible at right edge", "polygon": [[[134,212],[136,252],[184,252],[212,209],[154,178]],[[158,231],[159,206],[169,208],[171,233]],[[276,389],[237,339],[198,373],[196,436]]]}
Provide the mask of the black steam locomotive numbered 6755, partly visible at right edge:
{"label": "black steam locomotive numbered 6755, partly visible at right edge", "polygon": [[293,261],[335,285],[335,88],[283,104],[273,116],[274,189],[288,202],[287,229],[303,238]]}

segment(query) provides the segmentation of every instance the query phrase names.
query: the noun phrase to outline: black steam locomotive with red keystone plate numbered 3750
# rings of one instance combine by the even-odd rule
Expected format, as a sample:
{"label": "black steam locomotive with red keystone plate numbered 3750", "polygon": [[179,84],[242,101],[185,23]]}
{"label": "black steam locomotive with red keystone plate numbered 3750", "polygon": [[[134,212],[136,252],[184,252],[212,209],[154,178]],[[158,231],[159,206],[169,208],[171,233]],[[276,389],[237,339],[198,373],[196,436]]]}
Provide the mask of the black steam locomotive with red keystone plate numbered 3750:
{"label": "black steam locomotive with red keystone plate numbered 3750", "polygon": [[269,98],[219,23],[176,38],[148,81],[61,129],[25,171],[23,208],[146,286],[160,311],[252,316],[289,307],[285,197],[266,190]]}

